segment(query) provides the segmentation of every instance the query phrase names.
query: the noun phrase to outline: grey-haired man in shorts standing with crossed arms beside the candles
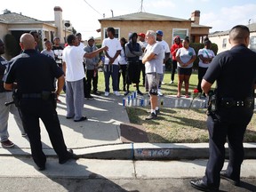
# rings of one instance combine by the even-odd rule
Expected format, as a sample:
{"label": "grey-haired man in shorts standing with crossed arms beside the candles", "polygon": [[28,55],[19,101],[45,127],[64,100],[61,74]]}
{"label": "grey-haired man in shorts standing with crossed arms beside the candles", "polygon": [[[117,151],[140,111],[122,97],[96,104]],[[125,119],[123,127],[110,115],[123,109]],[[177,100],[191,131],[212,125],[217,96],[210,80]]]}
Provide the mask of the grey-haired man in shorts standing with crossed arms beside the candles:
{"label": "grey-haired man in shorts standing with crossed arms beside the candles", "polygon": [[146,120],[156,119],[159,108],[157,104],[157,88],[159,84],[159,76],[163,71],[163,48],[161,44],[156,43],[156,32],[148,30],[146,34],[148,45],[145,49],[145,55],[142,63],[145,64],[145,72],[148,81],[148,91],[150,94],[151,111]]}

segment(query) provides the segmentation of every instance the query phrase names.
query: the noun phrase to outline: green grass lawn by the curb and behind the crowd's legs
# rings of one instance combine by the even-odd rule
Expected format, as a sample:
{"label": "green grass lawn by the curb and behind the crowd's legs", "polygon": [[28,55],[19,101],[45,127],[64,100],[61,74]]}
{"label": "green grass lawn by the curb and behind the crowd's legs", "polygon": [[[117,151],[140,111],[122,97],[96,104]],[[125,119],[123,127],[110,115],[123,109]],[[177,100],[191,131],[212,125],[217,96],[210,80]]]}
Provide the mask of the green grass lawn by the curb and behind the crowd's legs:
{"label": "green grass lawn by the curb and behind the crowd's legs", "polygon": [[[104,74],[99,73],[99,91],[104,92]],[[122,78],[122,77],[121,77]],[[171,81],[170,72],[164,75],[164,83],[162,92],[166,95],[177,94],[177,75],[175,75],[174,84]],[[122,82],[122,81],[121,81]],[[189,92],[197,86],[197,72],[194,71],[190,77]],[[122,88],[122,84],[120,85]],[[135,88],[131,88],[132,89]],[[184,88],[182,89],[184,93]],[[140,86],[140,91],[145,92],[145,88]],[[120,92],[124,93],[124,92]],[[205,109],[200,108],[161,108],[161,115],[156,120],[144,120],[148,116],[148,108],[127,108],[127,113],[132,124],[143,125],[148,133],[149,142],[173,143],[173,142],[208,142],[208,131],[206,128]],[[248,125],[247,132],[244,136],[245,142],[256,141],[256,117],[252,117],[251,123]]]}

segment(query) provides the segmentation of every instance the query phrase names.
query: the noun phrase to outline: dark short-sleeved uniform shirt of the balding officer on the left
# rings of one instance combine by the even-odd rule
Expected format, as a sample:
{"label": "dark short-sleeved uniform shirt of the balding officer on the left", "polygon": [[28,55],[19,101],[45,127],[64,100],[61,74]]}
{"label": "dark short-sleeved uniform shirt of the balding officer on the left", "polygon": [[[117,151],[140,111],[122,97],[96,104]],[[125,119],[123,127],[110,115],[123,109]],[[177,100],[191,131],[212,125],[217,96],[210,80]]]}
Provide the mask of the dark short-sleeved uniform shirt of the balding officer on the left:
{"label": "dark short-sleeved uniform shirt of the balding officer on the left", "polygon": [[54,77],[62,75],[63,71],[51,57],[26,50],[10,61],[4,82],[17,82],[21,93],[54,92]]}

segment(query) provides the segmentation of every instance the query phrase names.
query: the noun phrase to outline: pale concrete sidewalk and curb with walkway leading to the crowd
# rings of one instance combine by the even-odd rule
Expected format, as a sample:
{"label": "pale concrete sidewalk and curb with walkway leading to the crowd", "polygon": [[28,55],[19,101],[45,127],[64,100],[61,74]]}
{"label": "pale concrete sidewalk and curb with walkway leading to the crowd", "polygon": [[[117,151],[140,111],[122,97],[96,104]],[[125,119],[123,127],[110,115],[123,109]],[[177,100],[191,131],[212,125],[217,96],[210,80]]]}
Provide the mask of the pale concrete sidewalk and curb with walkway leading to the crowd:
{"label": "pale concrete sidewalk and curb with walkway leading to the crowd", "polygon": [[[208,157],[207,143],[123,143],[120,139],[120,124],[129,124],[128,115],[123,107],[123,97],[110,94],[109,97],[95,96],[94,98],[94,100],[84,100],[84,116],[88,117],[88,121],[76,123],[73,119],[66,119],[65,95],[60,95],[61,103],[58,103],[57,111],[64,139],[67,147],[72,148],[77,155],[86,158],[143,160]],[[159,98],[159,100],[164,100],[164,107],[173,108],[177,103],[183,103],[188,107],[191,98],[180,98],[176,101],[175,97],[166,96]],[[192,107],[204,107],[204,102],[205,100],[196,100],[195,106]],[[2,148],[0,146],[0,155],[30,156],[28,140],[21,137],[12,115],[8,123],[9,139],[16,146],[14,148]],[[56,156],[42,122],[41,127],[45,154]],[[255,143],[245,143],[244,147],[246,157],[256,156]]]}

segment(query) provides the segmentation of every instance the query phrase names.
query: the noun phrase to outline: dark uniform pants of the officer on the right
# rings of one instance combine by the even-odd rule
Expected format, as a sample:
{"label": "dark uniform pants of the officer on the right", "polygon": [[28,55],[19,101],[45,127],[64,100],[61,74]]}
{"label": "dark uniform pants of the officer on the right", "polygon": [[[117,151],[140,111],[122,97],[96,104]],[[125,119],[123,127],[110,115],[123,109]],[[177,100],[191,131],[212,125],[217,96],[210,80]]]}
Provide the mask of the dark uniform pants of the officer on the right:
{"label": "dark uniform pants of the officer on the right", "polygon": [[208,116],[209,160],[205,170],[204,182],[209,186],[220,187],[220,171],[225,161],[225,142],[228,137],[228,176],[239,180],[241,164],[244,160],[244,132],[251,121],[252,110],[248,108],[229,108],[220,112],[218,119]]}

